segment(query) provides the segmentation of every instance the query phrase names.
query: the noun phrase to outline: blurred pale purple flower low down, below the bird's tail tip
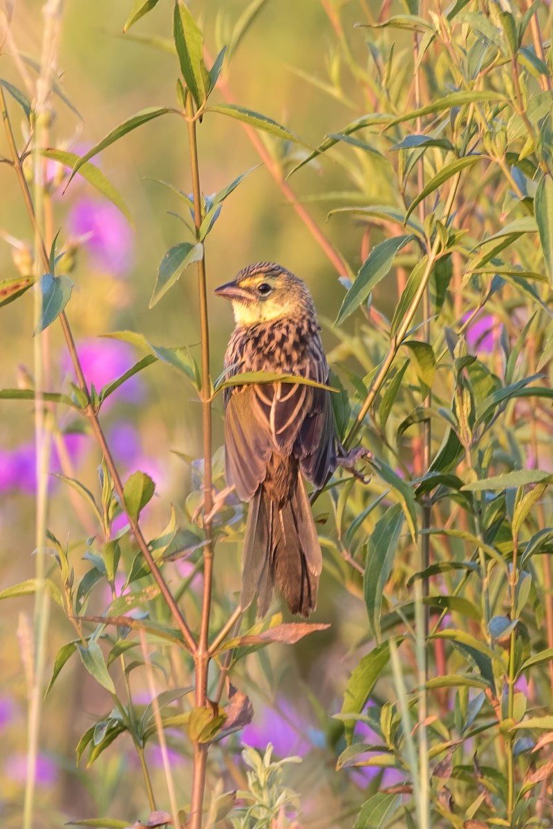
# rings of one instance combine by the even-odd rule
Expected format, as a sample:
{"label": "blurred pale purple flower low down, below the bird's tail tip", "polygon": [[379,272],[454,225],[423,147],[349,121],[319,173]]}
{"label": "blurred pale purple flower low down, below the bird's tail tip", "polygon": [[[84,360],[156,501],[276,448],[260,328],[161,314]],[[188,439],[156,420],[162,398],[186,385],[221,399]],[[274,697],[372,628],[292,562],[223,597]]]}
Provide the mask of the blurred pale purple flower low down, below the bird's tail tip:
{"label": "blurred pale purple flower low down, below the bird's tail tip", "polygon": [[303,757],[310,749],[304,736],[308,734],[308,724],[285,697],[277,699],[277,707],[279,710],[266,706],[260,714],[256,713],[253,722],[242,731],[241,742],[261,751],[272,743],[278,757]]}

